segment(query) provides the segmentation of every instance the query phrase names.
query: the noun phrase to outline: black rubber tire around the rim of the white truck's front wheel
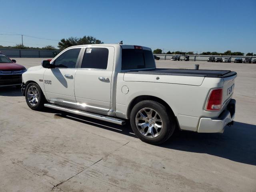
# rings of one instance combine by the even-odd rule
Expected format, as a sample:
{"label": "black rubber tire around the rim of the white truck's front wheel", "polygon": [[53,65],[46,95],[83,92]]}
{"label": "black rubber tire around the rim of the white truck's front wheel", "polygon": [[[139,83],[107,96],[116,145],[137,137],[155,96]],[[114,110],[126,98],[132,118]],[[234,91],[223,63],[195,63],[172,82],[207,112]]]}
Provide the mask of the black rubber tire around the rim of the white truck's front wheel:
{"label": "black rubber tire around the rim of the white truck's front wheel", "polygon": [[[37,92],[38,92],[38,95],[37,95],[38,96],[38,101],[35,105],[30,104],[30,102],[28,100],[28,91],[29,91],[29,88],[32,87],[32,86],[36,87]],[[36,111],[42,110],[42,108],[44,108],[44,104],[46,103],[44,93],[42,92],[40,86],[36,83],[30,83],[26,86],[25,98],[26,98],[26,102],[27,102],[27,105],[29,106],[29,108],[32,109],[32,110],[36,110]]]}

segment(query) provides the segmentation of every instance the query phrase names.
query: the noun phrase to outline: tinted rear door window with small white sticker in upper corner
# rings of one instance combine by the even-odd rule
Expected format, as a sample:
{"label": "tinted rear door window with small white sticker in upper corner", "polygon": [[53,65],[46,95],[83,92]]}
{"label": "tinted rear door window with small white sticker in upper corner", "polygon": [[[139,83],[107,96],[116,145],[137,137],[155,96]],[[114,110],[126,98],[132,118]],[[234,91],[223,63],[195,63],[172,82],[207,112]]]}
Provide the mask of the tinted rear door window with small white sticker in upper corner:
{"label": "tinted rear door window with small white sticker in upper corner", "polygon": [[86,48],[81,68],[106,69],[107,66],[107,48]]}

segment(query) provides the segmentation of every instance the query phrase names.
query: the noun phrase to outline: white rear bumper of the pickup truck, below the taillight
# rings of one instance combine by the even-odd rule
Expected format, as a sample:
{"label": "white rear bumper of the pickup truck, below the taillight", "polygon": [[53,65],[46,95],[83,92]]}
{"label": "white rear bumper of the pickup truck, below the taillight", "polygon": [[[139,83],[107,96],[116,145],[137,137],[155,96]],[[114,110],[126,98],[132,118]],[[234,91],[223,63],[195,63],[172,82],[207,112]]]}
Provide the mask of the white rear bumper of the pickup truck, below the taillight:
{"label": "white rear bumper of the pickup truck, below the taillight", "polygon": [[236,100],[231,99],[226,109],[218,118],[200,118],[199,133],[223,133],[225,126],[235,117]]}

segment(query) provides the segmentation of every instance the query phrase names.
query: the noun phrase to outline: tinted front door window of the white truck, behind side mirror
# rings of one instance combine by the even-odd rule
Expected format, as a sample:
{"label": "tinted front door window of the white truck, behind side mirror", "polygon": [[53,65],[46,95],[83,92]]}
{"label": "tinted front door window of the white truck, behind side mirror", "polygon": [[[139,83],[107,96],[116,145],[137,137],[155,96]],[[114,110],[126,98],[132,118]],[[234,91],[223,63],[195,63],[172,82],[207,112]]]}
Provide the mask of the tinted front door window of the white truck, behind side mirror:
{"label": "tinted front door window of the white truck, behind side mirror", "polygon": [[75,68],[81,48],[67,50],[54,61],[57,68]]}

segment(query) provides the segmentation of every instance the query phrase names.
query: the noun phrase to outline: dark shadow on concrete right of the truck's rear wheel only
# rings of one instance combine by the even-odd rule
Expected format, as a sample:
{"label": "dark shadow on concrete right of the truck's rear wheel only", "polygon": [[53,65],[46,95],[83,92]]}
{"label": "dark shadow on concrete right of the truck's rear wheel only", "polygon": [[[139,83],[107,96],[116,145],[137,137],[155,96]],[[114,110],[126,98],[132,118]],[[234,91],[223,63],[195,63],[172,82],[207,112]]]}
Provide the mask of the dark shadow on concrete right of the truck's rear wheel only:
{"label": "dark shadow on concrete right of the truck's rear wheel only", "polygon": [[256,165],[256,125],[234,122],[223,134],[179,131],[161,146]]}

